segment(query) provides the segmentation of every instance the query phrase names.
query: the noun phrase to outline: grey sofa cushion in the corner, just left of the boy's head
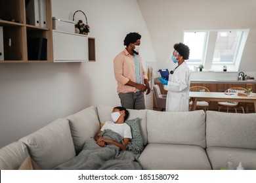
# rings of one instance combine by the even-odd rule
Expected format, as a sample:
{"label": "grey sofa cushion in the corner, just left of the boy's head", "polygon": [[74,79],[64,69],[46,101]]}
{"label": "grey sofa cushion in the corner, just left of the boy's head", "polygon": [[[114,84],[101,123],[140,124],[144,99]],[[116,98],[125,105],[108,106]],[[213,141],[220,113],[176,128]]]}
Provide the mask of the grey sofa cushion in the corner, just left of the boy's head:
{"label": "grey sofa cushion in the corner, just left of the boy's head", "polygon": [[70,122],[75,152],[78,154],[83,148],[85,140],[95,137],[100,130],[97,108],[95,106],[85,108],[76,114],[67,116],[66,119]]}

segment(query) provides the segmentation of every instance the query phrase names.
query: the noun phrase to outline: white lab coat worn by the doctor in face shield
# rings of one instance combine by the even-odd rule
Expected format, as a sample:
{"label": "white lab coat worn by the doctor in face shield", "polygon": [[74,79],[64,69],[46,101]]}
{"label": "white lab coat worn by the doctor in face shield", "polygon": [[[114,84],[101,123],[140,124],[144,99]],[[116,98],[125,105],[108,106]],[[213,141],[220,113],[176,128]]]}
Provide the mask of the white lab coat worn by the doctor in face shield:
{"label": "white lab coat worn by the doctor in face shield", "polygon": [[188,111],[190,88],[190,69],[183,62],[169,75],[168,84],[164,86],[167,90],[166,111]]}

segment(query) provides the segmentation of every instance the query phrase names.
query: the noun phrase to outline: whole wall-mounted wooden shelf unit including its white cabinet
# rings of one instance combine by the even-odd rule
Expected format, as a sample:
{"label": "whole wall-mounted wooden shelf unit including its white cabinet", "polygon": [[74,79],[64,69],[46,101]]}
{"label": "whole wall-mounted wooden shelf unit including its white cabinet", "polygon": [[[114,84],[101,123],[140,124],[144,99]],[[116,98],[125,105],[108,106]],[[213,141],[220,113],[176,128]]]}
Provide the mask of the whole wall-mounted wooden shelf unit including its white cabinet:
{"label": "whole wall-mounted wooden shelf unit including its white cabinet", "polygon": [[[1,0],[0,16],[10,14],[11,18],[17,22],[0,20],[0,26],[3,27],[3,48],[4,59],[0,63],[49,63],[49,62],[77,62],[77,61],[96,61],[95,54],[95,38],[87,35],[79,35],[73,33],[63,33],[65,39],[60,39],[54,44],[54,31],[51,14],[51,0],[46,1],[47,27],[39,27],[30,25],[26,16],[26,0]],[[56,31],[58,33],[62,31]],[[68,34],[68,37],[67,37]],[[83,39],[79,41],[77,37]],[[16,52],[16,57],[10,56],[9,39],[11,39],[12,51]],[[47,40],[46,58],[37,57],[32,59],[30,51],[33,46],[31,39]],[[66,43],[64,43],[66,41]],[[76,42],[74,42],[76,41]],[[72,43],[73,42],[73,43]],[[79,42],[77,44],[77,42]],[[75,46],[76,45],[76,46]],[[65,47],[66,46],[66,47]],[[64,48],[64,50],[62,49]],[[65,50],[66,49],[66,50]],[[8,51],[8,52],[7,52]],[[9,58],[8,58],[9,53]],[[54,54],[53,54],[54,53]],[[76,54],[75,54],[76,53]],[[55,55],[55,56],[54,56]],[[64,55],[64,56],[62,56]],[[13,59],[16,58],[16,59]]]}

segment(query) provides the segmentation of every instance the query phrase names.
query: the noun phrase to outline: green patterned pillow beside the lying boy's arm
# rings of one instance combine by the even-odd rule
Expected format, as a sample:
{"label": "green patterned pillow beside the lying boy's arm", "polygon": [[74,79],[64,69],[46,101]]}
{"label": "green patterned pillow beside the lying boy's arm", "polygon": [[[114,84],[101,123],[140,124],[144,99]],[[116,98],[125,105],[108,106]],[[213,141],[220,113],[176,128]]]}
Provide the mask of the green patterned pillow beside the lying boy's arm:
{"label": "green patterned pillow beside the lying boy's arm", "polygon": [[139,146],[140,150],[144,149],[143,139],[140,130],[140,118],[135,118],[133,120],[126,120],[125,123],[131,127],[131,135],[133,139],[131,139],[131,143]]}

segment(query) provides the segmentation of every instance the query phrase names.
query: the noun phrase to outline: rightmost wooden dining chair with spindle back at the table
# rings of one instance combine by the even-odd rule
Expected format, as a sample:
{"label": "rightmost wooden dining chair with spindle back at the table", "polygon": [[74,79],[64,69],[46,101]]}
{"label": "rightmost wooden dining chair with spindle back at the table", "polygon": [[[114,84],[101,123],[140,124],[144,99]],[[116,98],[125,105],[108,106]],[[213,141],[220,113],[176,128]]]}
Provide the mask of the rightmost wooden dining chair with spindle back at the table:
{"label": "rightmost wooden dining chair with spindle back at the table", "polygon": [[[232,87],[228,88],[224,93],[245,93],[247,90],[245,88],[241,87]],[[244,107],[242,106],[241,103],[238,102],[218,102],[219,105],[219,111],[221,110],[222,107],[226,107],[226,112],[228,112],[228,108],[234,108],[235,112],[237,113],[237,108],[241,107],[242,111],[244,113]]]}

